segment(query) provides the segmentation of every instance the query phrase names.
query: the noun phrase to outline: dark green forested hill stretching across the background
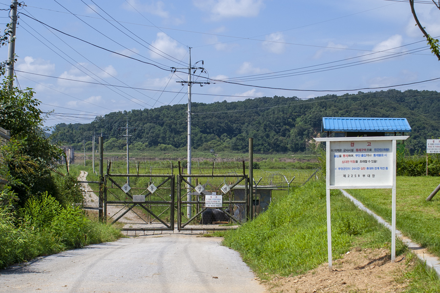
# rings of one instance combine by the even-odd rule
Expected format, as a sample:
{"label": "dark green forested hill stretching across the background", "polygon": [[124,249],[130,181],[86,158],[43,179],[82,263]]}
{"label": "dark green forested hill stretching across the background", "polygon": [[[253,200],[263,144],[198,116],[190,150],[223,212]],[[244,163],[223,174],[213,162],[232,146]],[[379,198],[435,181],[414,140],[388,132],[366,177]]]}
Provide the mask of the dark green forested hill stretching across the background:
{"label": "dark green forested hill stretching across the background", "polygon": [[[327,95],[309,100],[296,97],[263,97],[240,102],[192,104],[194,149],[216,152],[246,152],[254,138],[256,152],[307,151],[310,139],[321,131],[322,117],[407,118],[413,131],[405,142],[412,153],[426,149],[426,139],[440,137],[439,103],[436,91],[388,90],[342,96]],[[54,140],[77,149],[91,149],[93,131],[103,132],[106,150],[125,146],[126,119],[133,150],[150,147],[163,150],[186,147],[187,105],[113,112],[90,124],[59,124]]]}

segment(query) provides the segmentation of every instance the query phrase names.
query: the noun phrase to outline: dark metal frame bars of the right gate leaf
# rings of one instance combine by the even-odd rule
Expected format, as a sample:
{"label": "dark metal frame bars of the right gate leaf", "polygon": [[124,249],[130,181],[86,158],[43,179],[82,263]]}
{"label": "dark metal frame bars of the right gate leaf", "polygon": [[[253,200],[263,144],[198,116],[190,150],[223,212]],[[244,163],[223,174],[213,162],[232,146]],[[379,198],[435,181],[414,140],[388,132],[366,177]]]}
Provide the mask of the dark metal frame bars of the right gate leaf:
{"label": "dark metal frame bars of the right gate leaf", "polygon": [[[180,167],[179,167],[180,170]],[[214,178],[223,178],[223,181],[225,181],[226,178],[228,179],[234,179],[236,178],[236,181],[231,184],[226,184],[228,188],[230,189],[228,192],[223,193],[223,198],[226,197],[226,200],[222,201],[222,207],[227,208],[229,207],[229,211],[226,211],[224,209],[221,209],[221,211],[228,217],[228,222],[230,222],[227,225],[204,225],[202,223],[197,224],[197,221],[201,218],[202,213],[209,209],[205,207],[205,201],[202,199],[200,200],[200,196],[204,197],[205,195],[203,193],[196,192],[197,184],[195,183],[196,180],[187,180],[188,178],[197,178],[197,179],[214,179]],[[191,181],[191,183],[189,182]],[[242,183],[244,181],[244,183]],[[211,175],[185,175],[185,174],[179,174],[177,176],[177,229],[180,230],[230,230],[230,229],[236,229],[238,225],[241,224],[242,221],[247,221],[249,219],[249,188],[248,188],[248,181],[249,178],[244,172],[244,163],[243,163],[243,174],[211,174]],[[242,185],[243,194],[241,194],[242,199],[237,200],[237,196],[233,194],[233,190],[236,186],[238,186],[240,183]],[[182,186],[183,185],[183,186]],[[217,192],[220,192],[220,186],[215,188]],[[188,194],[190,194],[191,200],[188,200]],[[196,200],[193,200],[193,195],[195,196]],[[185,200],[184,198],[187,197]],[[227,198],[229,197],[229,198]],[[234,208],[236,209],[238,206],[241,206],[244,210],[240,210],[239,213],[242,212],[243,217],[240,219],[236,216],[237,212],[233,212]],[[185,211],[184,209],[186,207],[196,208],[192,209],[191,216],[186,216],[186,222],[183,220],[185,217]],[[235,210],[237,211],[237,210]],[[236,225],[232,225],[235,222]]]}

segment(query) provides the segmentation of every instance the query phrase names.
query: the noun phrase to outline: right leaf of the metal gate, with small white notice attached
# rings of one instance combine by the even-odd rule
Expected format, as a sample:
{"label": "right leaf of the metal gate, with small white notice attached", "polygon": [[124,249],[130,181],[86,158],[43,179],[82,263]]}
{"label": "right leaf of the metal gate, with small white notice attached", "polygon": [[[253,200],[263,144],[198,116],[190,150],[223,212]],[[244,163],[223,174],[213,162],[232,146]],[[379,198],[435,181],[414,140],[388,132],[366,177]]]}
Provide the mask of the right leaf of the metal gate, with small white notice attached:
{"label": "right leaf of the metal gate, with small white notice attached", "polygon": [[248,202],[248,177],[244,167],[241,175],[179,174],[177,229],[236,229],[249,218]]}

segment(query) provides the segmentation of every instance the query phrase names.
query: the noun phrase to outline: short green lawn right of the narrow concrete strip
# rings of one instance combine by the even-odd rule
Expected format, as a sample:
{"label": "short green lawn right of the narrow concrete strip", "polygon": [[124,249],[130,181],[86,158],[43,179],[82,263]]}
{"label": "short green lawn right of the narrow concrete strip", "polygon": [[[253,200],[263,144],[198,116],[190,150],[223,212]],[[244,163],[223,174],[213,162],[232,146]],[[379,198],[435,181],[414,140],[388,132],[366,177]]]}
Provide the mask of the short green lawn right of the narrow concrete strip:
{"label": "short green lawn right of the narrow concrete strip", "polygon": [[[440,184],[439,177],[396,178],[396,229],[440,257],[440,194],[426,198]],[[347,190],[366,207],[391,223],[390,189]]]}

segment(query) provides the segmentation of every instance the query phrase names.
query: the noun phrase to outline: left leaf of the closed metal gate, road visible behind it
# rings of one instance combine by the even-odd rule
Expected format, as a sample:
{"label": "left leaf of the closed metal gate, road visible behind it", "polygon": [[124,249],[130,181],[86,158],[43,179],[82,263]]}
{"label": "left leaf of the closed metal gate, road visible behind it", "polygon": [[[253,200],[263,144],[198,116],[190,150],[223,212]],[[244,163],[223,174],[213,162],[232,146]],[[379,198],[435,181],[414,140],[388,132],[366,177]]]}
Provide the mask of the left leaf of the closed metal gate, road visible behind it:
{"label": "left leaf of the closed metal gate, road visible behind it", "polygon": [[174,175],[104,176],[104,218],[121,230],[174,230],[174,203]]}

